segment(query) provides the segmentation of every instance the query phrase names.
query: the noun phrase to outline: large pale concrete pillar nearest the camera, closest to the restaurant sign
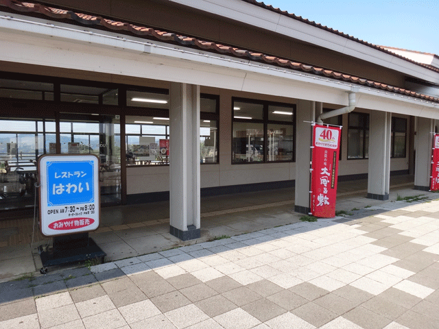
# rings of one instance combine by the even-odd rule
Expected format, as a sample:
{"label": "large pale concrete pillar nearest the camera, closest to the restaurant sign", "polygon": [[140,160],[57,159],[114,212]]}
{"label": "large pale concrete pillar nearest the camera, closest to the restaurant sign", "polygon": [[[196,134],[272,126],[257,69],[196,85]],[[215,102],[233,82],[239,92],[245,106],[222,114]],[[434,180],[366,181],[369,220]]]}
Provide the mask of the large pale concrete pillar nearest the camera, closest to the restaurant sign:
{"label": "large pale concrete pillar nearest the camera, closest to the restaurant sign", "polygon": [[200,86],[171,82],[169,90],[169,232],[200,237]]}

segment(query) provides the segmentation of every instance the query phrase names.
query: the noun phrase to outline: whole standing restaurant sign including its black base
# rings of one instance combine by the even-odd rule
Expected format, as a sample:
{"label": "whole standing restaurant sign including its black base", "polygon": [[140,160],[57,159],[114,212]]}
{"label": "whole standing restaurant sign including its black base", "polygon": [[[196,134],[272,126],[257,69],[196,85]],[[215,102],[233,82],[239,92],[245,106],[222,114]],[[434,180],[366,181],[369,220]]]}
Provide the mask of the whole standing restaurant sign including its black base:
{"label": "whole standing restaurant sign including its black base", "polygon": [[93,154],[46,154],[38,158],[40,231],[53,246],[38,247],[43,268],[106,253],[88,236],[99,227],[99,158]]}

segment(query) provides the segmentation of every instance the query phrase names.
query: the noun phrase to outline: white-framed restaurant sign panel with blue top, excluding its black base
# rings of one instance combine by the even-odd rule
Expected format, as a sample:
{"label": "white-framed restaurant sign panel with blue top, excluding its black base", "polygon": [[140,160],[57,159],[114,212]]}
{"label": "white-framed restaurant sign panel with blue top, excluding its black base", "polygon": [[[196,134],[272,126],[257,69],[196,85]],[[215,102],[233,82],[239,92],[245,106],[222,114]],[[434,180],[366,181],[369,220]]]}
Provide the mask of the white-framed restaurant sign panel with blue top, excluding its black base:
{"label": "white-framed restaurant sign panel with blue top, excluding its black base", "polygon": [[38,159],[40,230],[45,236],[75,234],[99,226],[99,158],[47,154]]}

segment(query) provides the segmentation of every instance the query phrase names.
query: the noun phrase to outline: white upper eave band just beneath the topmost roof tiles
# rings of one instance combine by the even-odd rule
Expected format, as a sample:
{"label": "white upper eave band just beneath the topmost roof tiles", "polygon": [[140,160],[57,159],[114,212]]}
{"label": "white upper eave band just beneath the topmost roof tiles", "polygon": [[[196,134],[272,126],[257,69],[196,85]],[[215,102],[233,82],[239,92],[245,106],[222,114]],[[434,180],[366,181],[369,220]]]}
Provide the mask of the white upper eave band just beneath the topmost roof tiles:
{"label": "white upper eave band just beneath the topmost roof tiles", "polygon": [[435,73],[422,66],[416,65],[402,58],[393,56],[363,45],[344,36],[339,36],[319,27],[311,26],[307,23],[292,19],[283,14],[278,14],[270,10],[246,3],[241,0],[169,0],[181,5],[224,16],[248,25],[266,29],[296,38],[313,45],[331,49],[348,56],[354,56],[361,60],[366,60],[373,64],[387,67],[395,71],[426,80],[431,83],[439,84],[439,73]]}

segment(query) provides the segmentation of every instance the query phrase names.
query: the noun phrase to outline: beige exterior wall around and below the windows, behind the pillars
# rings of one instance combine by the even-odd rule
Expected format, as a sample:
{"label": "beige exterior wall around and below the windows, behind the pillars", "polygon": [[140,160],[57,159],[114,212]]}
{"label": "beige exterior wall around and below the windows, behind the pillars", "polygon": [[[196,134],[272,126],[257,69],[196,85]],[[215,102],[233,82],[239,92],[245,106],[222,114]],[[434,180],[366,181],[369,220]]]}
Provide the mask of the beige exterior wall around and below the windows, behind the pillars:
{"label": "beige exterior wall around and below the windows, behind the pillars", "polygon": [[[127,83],[127,82],[126,82]],[[128,83],[130,83],[128,81]],[[157,86],[147,81],[145,86]],[[159,82],[161,88],[167,88],[165,82]],[[232,164],[232,97],[278,101],[282,103],[297,103],[296,99],[272,97],[254,93],[237,92],[233,90],[202,87],[202,93],[219,95],[219,164],[202,164],[201,188],[217,186],[233,186],[239,184],[254,184],[265,182],[280,182],[296,179],[296,162]],[[340,108],[333,104],[323,104],[324,108]],[[369,110],[356,108],[355,112],[369,113]],[[405,171],[409,169],[409,121],[410,117],[396,114],[396,117],[407,119],[406,157],[391,158],[390,171]],[[300,138],[300,136],[296,136]],[[347,160],[348,155],[348,114],[343,115],[342,130],[342,160],[339,162],[339,176],[361,175],[368,173],[368,159]],[[296,157],[300,156],[296,154]],[[127,194],[154,193],[169,191],[169,167],[128,167]]]}

